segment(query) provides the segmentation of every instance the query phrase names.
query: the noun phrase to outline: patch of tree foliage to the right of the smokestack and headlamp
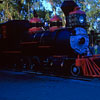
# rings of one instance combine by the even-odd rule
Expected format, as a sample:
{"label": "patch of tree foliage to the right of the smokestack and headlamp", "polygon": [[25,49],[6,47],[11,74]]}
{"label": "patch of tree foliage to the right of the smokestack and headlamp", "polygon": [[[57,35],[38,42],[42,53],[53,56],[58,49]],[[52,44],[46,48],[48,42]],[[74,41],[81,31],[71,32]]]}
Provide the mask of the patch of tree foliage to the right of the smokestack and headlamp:
{"label": "patch of tree foliage to the right of the smokestack and headlamp", "polygon": [[[98,31],[98,19],[100,18],[100,0],[80,0],[79,5],[86,12],[89,30]],[[99,26],[100,27],[100,26]]]}

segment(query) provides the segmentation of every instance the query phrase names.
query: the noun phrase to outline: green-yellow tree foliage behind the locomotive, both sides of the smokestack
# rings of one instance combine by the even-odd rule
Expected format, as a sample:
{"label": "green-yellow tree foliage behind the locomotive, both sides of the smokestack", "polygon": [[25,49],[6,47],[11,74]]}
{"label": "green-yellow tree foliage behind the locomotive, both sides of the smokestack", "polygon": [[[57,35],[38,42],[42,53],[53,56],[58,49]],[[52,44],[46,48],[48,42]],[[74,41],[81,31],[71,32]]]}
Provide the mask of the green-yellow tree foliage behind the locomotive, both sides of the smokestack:
{"label": "green-yellow tree foliage behind the locomotive, both sides of the smokestack", "polygon": [[[46,4],[51,4],[52,11],[45,8]],[[53,14],[59,14],[64,20],[64,14],[60,6],[64,0],[3,0],[0,3],[0,22],[7,20],[22,20],[33,17],[35,9],[40,18],[49,20]],[[97,29],[98,19],[100,18],[100,0],[74,0],[87,14],[87,21],[90,23],[90,29]]]}

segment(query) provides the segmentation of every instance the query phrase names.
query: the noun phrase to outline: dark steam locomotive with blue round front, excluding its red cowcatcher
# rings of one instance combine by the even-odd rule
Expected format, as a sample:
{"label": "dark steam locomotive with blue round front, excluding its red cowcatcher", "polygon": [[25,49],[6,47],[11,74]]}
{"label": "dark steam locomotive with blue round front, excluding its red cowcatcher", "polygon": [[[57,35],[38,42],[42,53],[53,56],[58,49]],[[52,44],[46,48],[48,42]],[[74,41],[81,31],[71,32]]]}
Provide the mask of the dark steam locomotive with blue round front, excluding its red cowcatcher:
{"label": "dark steam locomotive with blue round front, excluding its red cowcatcher", "polygon": [[[33,70],[56,74],[81,74],[75,66],[77,55],[85,55],[89,45],[86,14],[74,1],[64,1],[61,9],[66,16],[66,27],[54,31],[32,27],[42,23],[11,20],[0,24],[1,69]],[[61,25],[52,22],[51,26]]]}

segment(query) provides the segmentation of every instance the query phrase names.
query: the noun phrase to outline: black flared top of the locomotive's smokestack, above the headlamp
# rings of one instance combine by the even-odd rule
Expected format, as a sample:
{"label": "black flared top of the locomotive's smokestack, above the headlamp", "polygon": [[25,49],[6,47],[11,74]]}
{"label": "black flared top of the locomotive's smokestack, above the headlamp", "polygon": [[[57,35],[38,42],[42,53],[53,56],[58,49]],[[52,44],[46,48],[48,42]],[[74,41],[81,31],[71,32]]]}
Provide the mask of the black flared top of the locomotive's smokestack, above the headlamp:
{"label": "black flared top of the locomotive's smokestack, above the headlamp", "polygon": [[67,17],[69,13],[74,10],[75,7],[78,7],[78,5],[73,0],[65,0],[61,6],[61,9]]}

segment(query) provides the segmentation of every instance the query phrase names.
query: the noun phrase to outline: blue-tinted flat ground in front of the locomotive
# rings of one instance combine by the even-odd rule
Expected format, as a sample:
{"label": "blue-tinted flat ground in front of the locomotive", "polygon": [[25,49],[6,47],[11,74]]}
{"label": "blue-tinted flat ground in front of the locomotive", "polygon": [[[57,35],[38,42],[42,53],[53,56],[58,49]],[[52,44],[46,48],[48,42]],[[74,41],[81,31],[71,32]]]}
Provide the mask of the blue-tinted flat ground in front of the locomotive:
{"label": "blue-tinted flat ground in front of the locomotive", "polygon": [[100,100],[100,80],[0,71],[0,100]]}

